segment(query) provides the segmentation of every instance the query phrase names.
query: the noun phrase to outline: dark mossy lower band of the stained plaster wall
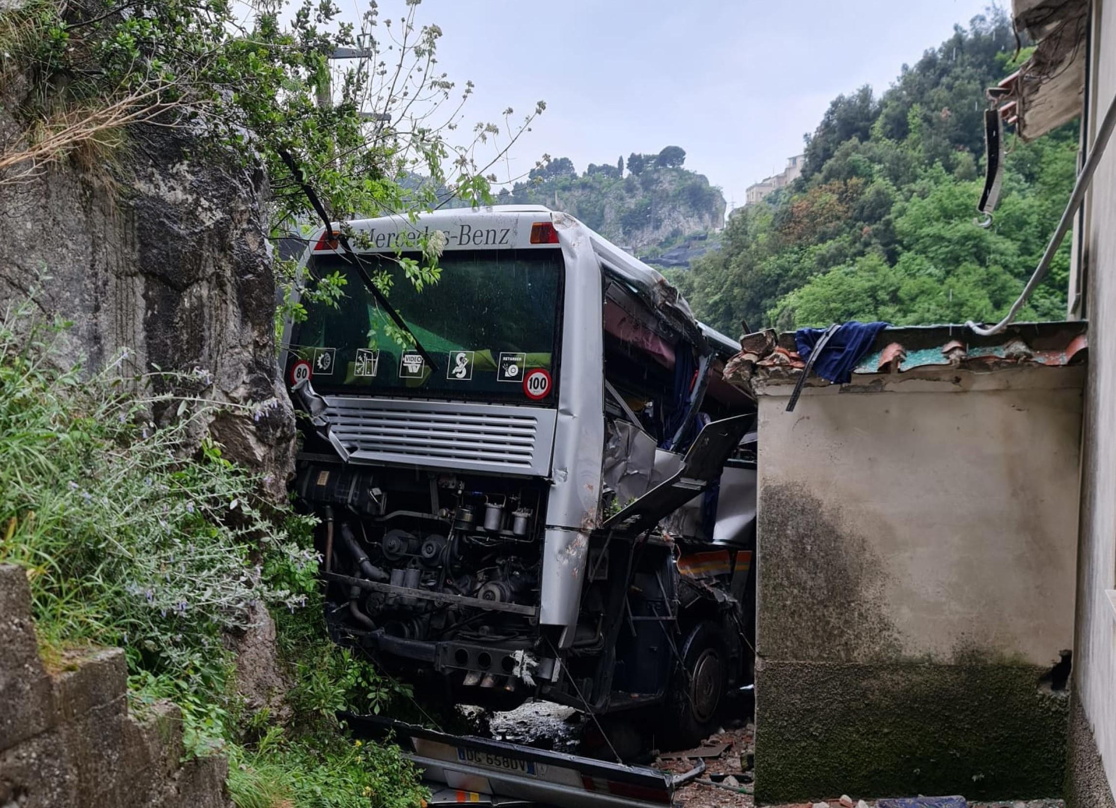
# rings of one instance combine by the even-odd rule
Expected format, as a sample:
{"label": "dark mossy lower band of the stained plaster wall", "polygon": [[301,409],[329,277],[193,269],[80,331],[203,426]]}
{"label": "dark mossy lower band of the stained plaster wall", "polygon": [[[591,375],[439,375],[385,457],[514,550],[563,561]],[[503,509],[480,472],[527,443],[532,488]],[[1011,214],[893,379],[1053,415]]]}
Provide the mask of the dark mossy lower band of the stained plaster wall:
{"label": "dark mossy lower band of the stained plaster wall", "polygon": [[1026,665],[761,661],[756,799],[1056,797],[1066,692]]}

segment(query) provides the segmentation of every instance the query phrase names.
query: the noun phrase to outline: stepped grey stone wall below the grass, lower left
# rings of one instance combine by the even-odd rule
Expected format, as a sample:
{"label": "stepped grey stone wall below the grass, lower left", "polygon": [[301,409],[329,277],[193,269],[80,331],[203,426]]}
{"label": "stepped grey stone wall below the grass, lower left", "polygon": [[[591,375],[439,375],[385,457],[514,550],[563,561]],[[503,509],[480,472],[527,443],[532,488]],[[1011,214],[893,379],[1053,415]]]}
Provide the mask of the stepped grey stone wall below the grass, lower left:
{"label": "stepped grey stone wall below the grass, lower left", "polygon": [[44,667],[13,566],[0,566],[0,808],[231,808],[223,758],[182,762],[176,706],[128,711],[121,648]]}

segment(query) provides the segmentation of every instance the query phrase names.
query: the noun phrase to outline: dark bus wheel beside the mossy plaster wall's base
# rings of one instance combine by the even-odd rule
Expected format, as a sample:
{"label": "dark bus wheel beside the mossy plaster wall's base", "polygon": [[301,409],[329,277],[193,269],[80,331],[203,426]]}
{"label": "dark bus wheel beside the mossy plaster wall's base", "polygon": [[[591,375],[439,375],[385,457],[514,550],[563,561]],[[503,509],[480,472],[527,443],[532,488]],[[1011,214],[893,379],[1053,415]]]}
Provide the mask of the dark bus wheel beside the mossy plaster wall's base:
{"label": "dark bus wheel beside the mossy plaster wall's base", "polygon": [[728,682],[723,646],[712,623],[699,623],[683,645],[672,710],[676,730],[671,733],[682,747],[701,743],[716,729]]}

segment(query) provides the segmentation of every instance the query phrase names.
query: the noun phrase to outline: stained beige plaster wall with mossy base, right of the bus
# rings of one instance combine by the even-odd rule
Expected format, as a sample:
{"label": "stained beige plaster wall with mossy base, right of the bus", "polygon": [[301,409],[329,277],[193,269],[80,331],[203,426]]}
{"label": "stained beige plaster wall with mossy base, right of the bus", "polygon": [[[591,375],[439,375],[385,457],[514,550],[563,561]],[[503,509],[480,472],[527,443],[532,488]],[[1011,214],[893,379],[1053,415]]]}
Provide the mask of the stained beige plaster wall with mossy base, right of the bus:
{"label": "stained beige plaster wall with mossy base, right of the bus", "polygon": [[1059,792],[1083,372],[759,385],[759,800]]}

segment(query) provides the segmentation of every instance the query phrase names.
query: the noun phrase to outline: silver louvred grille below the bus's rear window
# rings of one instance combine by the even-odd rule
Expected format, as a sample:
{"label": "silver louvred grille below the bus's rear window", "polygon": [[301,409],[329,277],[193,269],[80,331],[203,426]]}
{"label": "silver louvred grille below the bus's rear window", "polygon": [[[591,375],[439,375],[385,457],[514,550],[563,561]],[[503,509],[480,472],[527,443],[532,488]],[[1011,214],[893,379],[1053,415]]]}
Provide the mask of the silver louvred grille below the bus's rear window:
{"label": "silver louvred grille below the bus's rear window", "polygon": [[549,474],[555,411],[327,397],[330,431],[364,463]]}

